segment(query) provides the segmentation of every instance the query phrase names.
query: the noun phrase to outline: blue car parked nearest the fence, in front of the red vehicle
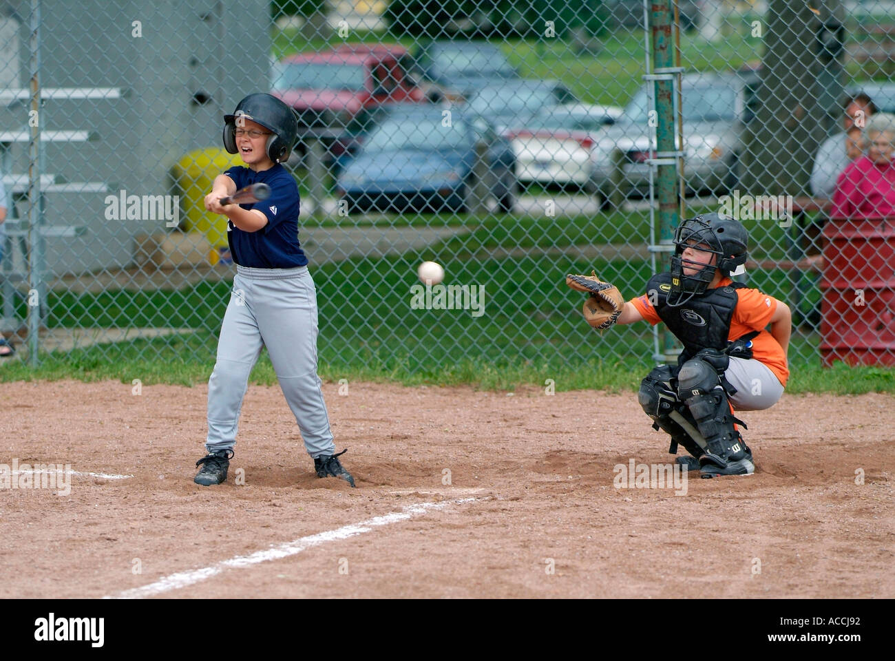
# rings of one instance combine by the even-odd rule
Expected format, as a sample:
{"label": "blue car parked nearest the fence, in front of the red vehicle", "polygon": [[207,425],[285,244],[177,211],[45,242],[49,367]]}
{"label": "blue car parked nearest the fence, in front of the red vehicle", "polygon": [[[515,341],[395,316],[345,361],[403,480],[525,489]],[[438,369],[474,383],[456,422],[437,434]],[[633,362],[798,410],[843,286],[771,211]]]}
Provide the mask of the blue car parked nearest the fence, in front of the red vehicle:
{"label": "blue car parked nearest the fence, in front of the red vehicle", "polygon": [[469,210],[475,144],[488,145],[490,195],[501,210],[516,204],[516,159],[482,117],[441,107],[394,108],[362,142],[337,178],[349,210]]}

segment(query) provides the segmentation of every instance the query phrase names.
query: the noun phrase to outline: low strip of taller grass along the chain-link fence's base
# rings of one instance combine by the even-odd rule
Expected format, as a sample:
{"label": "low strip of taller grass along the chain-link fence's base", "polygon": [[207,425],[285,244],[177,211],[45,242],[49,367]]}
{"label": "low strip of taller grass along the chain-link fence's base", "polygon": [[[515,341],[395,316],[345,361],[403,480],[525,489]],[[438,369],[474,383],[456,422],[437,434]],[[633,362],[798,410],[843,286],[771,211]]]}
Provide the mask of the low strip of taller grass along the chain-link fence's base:
{"label": "low strip of taller grass along the chain-link fence's base", "polygon": [[[605,348],[610,333],[629,329],[595,333],[575,333],[575,346],[558,352],[543,361],[511,360],[495,364],[482,358],[468,359],[439,365],[432,358],[427,369],[409,372],[406,365],[413,361],[409,353],[391,356],[388,365],[355,362],[347,365],[338,359],[337,346],[328,339],[323,329],[320,339],[320,376],[327,382],[340,379],[371,382],[399,382],[406,386],[472,385],[480,390],[515,391],[518,388],[545,388],[548,379],[556,391],[596,389],[609,392],[636,391],[640,380],[651,368],[648,344],[637,341],[631,354],[616,357]],[[795,338],[797,346],[813,346],[810,340]],[[103,345],[77,349],[70,355],[43,356],[37,369],[14,362],[0,370],[0,382],[55,381],[74,379],[82,382],[116,380],[131,384],[139,379],[143,385],[174,383],[192,386],[207,382],[214,367],[216,339],[211,333],[197,333],[176,339],[140,339],[127,344]],[[571,342],[570,342],[571,344]],[[601,348],[601,345],[603,348]],[[643,356],[635,356],[636,350]],[[375,353],[375,351],[371,352]],[[585,357],[587,356],[587,357]],[[251,382],[276,385],[277,378],[266,354],[263,354],[251,373]],[[836,363],[823,368],[815,359],[794,369],[788,385],[790,394],[831,393],[858,395],[866,392],[895,392],[895,370],[880,367],[850,367]]]}

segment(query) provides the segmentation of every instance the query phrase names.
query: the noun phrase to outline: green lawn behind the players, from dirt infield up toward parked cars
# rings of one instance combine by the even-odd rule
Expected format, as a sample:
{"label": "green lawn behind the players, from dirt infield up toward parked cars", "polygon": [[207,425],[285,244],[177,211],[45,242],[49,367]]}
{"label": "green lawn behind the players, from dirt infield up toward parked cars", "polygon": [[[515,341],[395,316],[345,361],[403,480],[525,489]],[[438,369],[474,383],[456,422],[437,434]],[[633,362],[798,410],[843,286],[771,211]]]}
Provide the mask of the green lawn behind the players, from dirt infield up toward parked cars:
{"label": "green lawn behind the players, from dirt infield up toward parked cars", "polygon": [[[622,217],[618,217],[620,220]],[[419,255],[356,258],[313,270],[320,302],[320,373],[331,381],[401,382],[407,385],[472,384],[477,388],[542,388],[547,379],[558,391],[597,388],[635,390],[652,365],[652,331],[645,324],[591,331],[577,312],[581,297],[563,285],[570,270],[596,269],[623,283],[626,296],[644,288],[649,262],[589,259],[529,250],[501,259],[462,254],[494,247],[574,245],[594,233],[601,219],[504,219],[466,228],[461,239],[445,242],[438,254],[450,283],[484,286],[484,313],[471,310],[414,310],[411,288]],[[638,221],[643,227],[643,221]],[[631,227],[635,227],[636,223]],[[629,235],[628,238],[633,241]],[[454,242],[462,241],[462,244]],[[453,257],[450,255],[454,255]],[[782,271],[755,272],[752,284],[777,296],[788,289]],[[51,296],[51,325],[121,325],[197,328],[170,338],[77,349],[42,356],[41,365],[7,363],[0,381],[74,378],[119,379],[145,384],[192,384],[208,379],[231,283],[200,283],[180,291]],[[99,320],[97,322],[96,320]],[[857,394],[895,391],[895,372],[868,367],[820,365],[816,336],[795,336],[790,349],[794,374],[790,392]],[[276,382],[266,359],[254,382]]]}

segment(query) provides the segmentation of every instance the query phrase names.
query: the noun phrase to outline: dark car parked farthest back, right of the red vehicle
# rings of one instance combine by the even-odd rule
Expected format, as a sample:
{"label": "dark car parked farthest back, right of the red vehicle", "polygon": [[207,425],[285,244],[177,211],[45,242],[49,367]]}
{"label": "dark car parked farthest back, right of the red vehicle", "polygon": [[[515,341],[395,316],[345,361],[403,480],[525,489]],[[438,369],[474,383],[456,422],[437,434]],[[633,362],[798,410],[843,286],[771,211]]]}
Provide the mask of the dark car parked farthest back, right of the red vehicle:
{"label": "dark car parked farthest back, right of the red vehicle", "polygon": [[432,41],[416,48],[413,64],[422,79],[465,97],[495,82],[519,78],[504,52],[487,42]]}

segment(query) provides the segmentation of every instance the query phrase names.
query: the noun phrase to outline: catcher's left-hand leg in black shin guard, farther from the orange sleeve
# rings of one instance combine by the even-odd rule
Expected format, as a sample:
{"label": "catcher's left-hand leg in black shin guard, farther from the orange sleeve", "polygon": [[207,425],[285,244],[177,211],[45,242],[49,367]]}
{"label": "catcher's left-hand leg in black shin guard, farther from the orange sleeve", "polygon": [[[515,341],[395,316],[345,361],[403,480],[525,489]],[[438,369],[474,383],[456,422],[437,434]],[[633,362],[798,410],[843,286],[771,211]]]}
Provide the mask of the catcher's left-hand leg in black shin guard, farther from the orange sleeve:
{"label": "catcher's left-hand leg in black shin guard, farther from the orange sleeve", "polygon": [[699,462],[696,459],[705,452],[705,441],[695,429],[695,421],[688,415],[686,406],[678,399],[678,392],[672,385],[673,379],[669,365],[656,367],[640,382],[637,399],[646,415],[652,418],[652,428],[671,435],[669,452],[678,454],[678,445],[683,445],[692,455],[692,458],[678,458],[678,464],[686,470],[698,470]]}

